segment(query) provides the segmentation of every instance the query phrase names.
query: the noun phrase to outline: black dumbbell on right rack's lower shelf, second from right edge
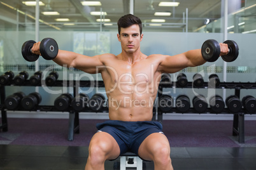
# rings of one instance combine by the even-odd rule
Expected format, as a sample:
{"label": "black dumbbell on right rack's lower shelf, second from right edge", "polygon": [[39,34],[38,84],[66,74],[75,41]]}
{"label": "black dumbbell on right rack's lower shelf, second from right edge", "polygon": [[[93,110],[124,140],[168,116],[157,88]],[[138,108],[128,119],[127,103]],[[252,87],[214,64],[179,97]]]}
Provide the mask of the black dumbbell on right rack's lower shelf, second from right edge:
{"label": "black dumbbell on right rack's lower shelf, second from right edge", "polygon": [[231,95],[227,97],[225,103],[229,111],[231,111],[232,113],[237,113],[242,108],[242,102],[236,95]]}

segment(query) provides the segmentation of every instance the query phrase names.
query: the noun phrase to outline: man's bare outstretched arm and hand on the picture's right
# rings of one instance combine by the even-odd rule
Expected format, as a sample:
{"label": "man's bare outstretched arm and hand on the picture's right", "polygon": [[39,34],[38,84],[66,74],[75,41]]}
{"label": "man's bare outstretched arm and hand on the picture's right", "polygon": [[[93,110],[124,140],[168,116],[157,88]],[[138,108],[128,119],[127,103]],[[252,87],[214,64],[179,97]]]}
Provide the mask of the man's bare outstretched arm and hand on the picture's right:
{"label": "man's bare outstretched arm and hand on the picture's right", "polygon": [[[220,56],[227,55],[227,53],[229,53],[227,44],[220,43]],[[201,49],[192,49],[179,55],[163,56],[158,71],[174,73],[186,67],[196,67],[204,63],[206,63],[206,61],[201,54]]]}

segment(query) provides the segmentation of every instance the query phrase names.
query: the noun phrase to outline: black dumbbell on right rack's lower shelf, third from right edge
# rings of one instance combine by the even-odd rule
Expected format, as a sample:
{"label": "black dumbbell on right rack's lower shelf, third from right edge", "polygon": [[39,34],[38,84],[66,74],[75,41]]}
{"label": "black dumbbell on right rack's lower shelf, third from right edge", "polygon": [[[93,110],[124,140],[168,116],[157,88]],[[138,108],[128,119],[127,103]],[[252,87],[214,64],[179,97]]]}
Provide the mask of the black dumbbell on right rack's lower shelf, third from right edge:
{"label": "black dumbbell on right rack's lower shelf, third from right edge", "polygon": [[219,95],[211,96],[209,103],[210,103],[211,110],[213,110],[213,112],[217,114],[222,112],[225,108],[225,102],[223,98]]}

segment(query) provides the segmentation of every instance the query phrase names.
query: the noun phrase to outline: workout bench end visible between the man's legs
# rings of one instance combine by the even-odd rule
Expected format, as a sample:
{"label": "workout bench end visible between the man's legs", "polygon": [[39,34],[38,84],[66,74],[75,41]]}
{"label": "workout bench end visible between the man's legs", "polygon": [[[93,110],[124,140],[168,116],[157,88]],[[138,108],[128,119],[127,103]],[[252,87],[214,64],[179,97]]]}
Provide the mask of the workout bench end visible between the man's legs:
{"label": "workout bench end visible between the man's legs", "polygon": [[136,167],[137,170],[142,170],[143,160],[132,152],[126,152],[120,155],[120,170],[125,170],[126,167]]}

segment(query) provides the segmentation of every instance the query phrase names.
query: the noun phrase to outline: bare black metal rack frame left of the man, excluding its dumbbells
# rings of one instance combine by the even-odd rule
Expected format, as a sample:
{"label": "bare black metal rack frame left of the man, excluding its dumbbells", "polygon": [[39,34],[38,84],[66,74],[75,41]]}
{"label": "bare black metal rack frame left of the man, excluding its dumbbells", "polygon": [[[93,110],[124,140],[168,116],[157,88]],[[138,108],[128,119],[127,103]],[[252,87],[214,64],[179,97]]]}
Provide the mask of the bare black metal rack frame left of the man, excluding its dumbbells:
{"label": "bare black metal rack frame left of the man, excluding its dumbbells", "polygon": [[[70,87],[71,85],[73,87],[73,94],[75,97],[78,95],[78,88],[81,87],[97,87],[97,88],[104,88],[104,82],[103,81],[56,81],[54,84],[54,87]],[[79,84],[79,86],[78,86]],[[10,84],[5,85],[5,86],[17,86],[13,83],[13,81],[10,81]],[[0,97],[1,97],[1,104],[0,104],[0,109],[1,109],[1,116],[2,116],[2,122],[0,124],[0,129],[3,129],[3,131],[8,131],[8,120],[7,120],[7,109],[4,107],[4,100],[6,98],[5,95],[5,86],[0,84]],[[29,80],[26,80],[22,86],[32,86],[29,82]],[[35,87],[35,86],[34,86]],[[19,111],[42,111],[42,112],[61,112],[57,110],[53,105],[38,105],[37,107],[34,107],[32,110],[24,110],[24,108],[18,108],[16,110]],[[68,128],[68,140],[72,141],[73,140],[73,135],[74,133],[80,133],[80,125],[79,125],[79,112],[76,112],[73,110],[71,107],[69,107],[65,112],[69,112],[69,128]],[[85,108],[82,110],[82,112],[94,112],[90,110],[90,108]],[[108,108],[103,108],[100,112],[108,112]]]}

